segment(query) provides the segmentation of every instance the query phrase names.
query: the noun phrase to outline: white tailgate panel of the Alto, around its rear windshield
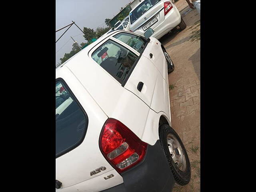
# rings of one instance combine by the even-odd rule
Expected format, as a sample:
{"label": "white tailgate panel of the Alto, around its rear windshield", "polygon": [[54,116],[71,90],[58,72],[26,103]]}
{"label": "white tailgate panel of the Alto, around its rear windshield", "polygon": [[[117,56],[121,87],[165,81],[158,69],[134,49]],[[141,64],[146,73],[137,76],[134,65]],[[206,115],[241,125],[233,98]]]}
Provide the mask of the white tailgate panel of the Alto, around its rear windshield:
{"label": "white tailgate panel of the Alto, around its rear windshield", "polygon": [[[86,136],[83,142],[70,152],[56,158],[56,179],[62,181],[62,188],[60,188],[59,191],[86,180],[100,183],[102,180],[105,180],[102,174],[107,172],[114,174],[115,179],[103,182],[102,185],[97,186],[97,189],[101,188],[101,190],[104,190],[105,188],[109,188],[110,184],[115,186],[122,183],[122,177],[104,158],[98,144],[100,132],[108,116],[104,114],[84,86],[80,84],[66,66],[63,66],[58,72],[56,70],[56,78],[58,77],[63,78],[66,84],[68,84],[89,119]],[[101,166],[105,166],[106,170],[92,176],[90,175],[91,171]],[[88,186],[86,189],[88,189],[88,191],[98,191],[95,189],[94,185]]]}

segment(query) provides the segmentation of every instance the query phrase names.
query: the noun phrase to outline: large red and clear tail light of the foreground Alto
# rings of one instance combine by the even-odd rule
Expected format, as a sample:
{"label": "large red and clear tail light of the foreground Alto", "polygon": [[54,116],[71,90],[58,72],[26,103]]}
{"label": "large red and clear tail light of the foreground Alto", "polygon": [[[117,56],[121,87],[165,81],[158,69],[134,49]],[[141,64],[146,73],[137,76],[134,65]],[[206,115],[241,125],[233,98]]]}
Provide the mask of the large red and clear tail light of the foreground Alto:
{"label": "large red and clear tail light of the foreground Alto", "polygon": [[122,173],[144,158],[148,144],[120,121],[109,118],[100,133],[99,145],[106,160]]}

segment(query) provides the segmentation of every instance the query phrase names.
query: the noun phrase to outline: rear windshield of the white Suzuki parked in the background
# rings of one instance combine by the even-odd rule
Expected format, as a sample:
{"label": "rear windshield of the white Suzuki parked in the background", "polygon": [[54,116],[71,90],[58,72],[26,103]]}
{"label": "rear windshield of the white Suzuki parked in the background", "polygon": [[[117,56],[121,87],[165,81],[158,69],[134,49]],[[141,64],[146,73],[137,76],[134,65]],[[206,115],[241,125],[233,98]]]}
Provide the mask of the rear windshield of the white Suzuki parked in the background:
{"label": "rear windshield of the white Suzuki parked in the background", "polygon": [[130,20],[131,24],[136,21],[140,16],[142,16],[144,13],[146,13],[150,8],[152,8],[155,4],[160,2],[160,0],[145,0],[143,3],[141,3],[138,7],[136,7],[131,13],[130,13]]}

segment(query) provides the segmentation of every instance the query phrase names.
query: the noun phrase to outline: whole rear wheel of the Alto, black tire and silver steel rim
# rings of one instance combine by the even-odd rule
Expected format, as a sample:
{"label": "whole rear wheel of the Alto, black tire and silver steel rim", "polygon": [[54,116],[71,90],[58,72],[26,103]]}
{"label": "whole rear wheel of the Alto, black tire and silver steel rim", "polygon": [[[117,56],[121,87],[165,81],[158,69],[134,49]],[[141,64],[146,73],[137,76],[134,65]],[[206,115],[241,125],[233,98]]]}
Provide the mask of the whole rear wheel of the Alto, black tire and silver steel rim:
{"label": "whole rear wheel of the Alto, black tire and silver steel rim", "polygon": [[167,124],[160,126],[159,138],[176,184],[179,186],[188,184],[191,178],[191,169],[182,140]]}

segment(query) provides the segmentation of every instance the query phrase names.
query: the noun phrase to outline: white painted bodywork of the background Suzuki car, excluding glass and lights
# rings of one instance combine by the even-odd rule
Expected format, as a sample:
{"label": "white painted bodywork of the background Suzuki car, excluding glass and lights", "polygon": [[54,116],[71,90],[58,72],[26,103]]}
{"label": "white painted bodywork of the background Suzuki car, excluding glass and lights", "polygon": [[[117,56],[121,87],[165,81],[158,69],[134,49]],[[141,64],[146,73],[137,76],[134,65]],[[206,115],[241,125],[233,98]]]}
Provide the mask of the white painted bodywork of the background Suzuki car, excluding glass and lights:
{"label": "white painted bodywork of the background Suzuki car, excluding glass and lights", "polygon": [[[178,24],[180,24],[181,22],[181,16],[180,16],[180,12],[172,2],[171,4],[173,8],[166,15],[164,15],[164,2],[167,2],[167,1],[170,2],[169,0],[162,0],[158,2],[155,6],[153,6],[151,9],[149,9],[147,12],[145,12],[134,23],[130,24],[130,30],[132,30],[134,33],[137,33],[143,36],[145,31],[142,29],[142,27],[146,25],[148,22],[150,22],[150,20],[152,20],[154,17],[156,17],[158,19],[158,22],[150,26],[150,28],[154,30],[154,34],[151,37],[160,39],[162,36],[167,34],[174,27],[178,26]],[[139,4],[137,6],[139,6]],[[130,13],[136,7],[134,7],[130,11]],[[147,18],[147,20],[144,20],[145,17]]]}

